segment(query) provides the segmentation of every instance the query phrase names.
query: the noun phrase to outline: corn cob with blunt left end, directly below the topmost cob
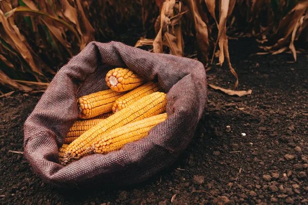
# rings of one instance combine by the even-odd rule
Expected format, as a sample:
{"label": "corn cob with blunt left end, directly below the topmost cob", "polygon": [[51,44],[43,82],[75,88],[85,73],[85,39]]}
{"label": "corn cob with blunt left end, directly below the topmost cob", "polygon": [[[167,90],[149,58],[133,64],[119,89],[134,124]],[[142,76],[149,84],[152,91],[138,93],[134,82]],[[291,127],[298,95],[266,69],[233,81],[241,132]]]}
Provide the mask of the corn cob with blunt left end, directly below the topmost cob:
{"label": "corn cob with blunt left end, directly below the topmost cob", "polygon": [[112,105],[116,99],[125,93],[104,90],[90,95],[82,96],[78,99],[80,109],[79,118],[88,119],[112,111]]}

